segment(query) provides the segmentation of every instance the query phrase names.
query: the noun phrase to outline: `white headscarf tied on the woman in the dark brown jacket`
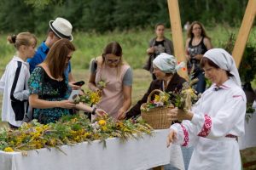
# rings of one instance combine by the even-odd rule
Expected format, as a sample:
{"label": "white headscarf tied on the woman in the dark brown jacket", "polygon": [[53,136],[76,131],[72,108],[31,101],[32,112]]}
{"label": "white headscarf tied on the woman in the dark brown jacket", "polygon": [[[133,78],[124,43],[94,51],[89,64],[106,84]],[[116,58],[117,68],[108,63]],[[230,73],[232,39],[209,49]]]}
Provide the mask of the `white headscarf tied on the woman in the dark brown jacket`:
{"label": "white headscarf tied on the woman in the dark brown jacket", "polygon": [[153,60],[153,65],[159,68],[160,71],[174,74],[177,72],[177,70],[183,67],[184,63],[181,62],[179,65],[177,65],[177,60],[173,55],[162,53],[162,54],[159,54]]}

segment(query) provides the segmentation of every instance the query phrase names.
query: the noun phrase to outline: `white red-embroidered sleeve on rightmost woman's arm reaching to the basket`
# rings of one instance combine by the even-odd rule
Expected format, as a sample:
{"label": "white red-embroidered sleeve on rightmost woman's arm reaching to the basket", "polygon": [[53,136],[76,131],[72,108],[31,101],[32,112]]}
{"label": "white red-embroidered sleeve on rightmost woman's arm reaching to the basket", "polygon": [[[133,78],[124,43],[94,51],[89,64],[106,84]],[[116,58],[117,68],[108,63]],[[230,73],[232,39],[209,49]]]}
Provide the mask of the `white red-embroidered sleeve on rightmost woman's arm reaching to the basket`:
{"label": "white red-embroidered sleeve on rightmost woman's arm reaching to the basket", "polygon": [[246,97],[243,92],[230,95],[215,116],[207,113],[194,114],[191,122],[198,136],[218,139],[224,137],[231,131],[237,122],[244,120],[246,113]]}

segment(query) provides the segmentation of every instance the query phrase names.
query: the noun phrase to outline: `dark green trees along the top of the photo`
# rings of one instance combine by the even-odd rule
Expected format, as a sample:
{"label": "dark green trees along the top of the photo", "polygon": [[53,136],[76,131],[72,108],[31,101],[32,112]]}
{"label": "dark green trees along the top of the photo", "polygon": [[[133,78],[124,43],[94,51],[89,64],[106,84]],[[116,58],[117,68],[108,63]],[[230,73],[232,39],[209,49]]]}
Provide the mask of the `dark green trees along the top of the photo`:
{"label": "dark green trees along the top of the photo", "polygon": [[[200,20],[240,26],[247,0],[179,0],[182,24]],[[49,20],[61,16],[70,20],[74,31],[124,31],[154,26],[170,26],[166,0],[1,0],[0,30],[44,33]]]}

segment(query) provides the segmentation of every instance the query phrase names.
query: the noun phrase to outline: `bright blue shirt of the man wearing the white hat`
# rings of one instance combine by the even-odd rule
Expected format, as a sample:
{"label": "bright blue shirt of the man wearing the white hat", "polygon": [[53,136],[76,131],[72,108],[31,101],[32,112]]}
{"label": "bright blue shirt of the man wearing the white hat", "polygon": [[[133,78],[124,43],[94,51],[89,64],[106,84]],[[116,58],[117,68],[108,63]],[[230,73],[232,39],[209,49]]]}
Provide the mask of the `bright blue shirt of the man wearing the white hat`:
{"label": "bright blue shirt of the man wearing the white hat", "polygon": [[[32,59],[27,59],[27,62],[29,63],[29,71],[32,73],[32,71],[36,68],[37,65],[41,64],[44,59],[46,58],[46,55],[49,52],[49,47],[46,46],[44,42],[40,44],[38,47],[38,50],[36,54],[33,56]],[[71,64],[68,62],[67,69],[65,71],[65,76],[68,78],[68,73],[71,71]]]}

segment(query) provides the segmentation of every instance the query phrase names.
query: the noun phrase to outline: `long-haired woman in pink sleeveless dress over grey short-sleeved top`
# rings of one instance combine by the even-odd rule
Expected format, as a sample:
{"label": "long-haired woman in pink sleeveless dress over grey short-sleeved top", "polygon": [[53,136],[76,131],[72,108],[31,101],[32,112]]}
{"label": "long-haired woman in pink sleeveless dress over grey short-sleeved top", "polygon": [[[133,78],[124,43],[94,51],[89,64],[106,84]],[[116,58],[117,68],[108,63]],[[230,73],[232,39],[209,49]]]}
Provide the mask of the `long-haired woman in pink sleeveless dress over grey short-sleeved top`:
{"label": "long-haired woman in pink sleeveless dress over grey short-sleeved top", "polygon": [[[106,82],[101,89],[99,82]],[[122,48],[118,42],[110,42],[103,54],[90,63],[90,90],[101,90],[102,99],[96,105],[114,119],[124,119],[131,106],[132,71],[123,62]]]}

